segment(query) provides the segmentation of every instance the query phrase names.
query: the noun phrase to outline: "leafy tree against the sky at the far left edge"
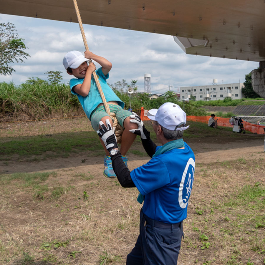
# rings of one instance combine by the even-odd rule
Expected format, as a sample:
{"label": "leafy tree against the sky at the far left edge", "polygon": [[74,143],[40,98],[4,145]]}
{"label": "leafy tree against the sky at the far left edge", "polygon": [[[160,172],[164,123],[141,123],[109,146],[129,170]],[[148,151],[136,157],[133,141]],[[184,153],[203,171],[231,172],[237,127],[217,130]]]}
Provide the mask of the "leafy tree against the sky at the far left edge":
{"label": "leafy tree against the sky at the far left edge", "polygon": [[14,24],[0,23],[0,74],[11,75],[16,72],[10,64],[24,62],[30,55],[24,52],[27,47],[24,39],[19,38]]}

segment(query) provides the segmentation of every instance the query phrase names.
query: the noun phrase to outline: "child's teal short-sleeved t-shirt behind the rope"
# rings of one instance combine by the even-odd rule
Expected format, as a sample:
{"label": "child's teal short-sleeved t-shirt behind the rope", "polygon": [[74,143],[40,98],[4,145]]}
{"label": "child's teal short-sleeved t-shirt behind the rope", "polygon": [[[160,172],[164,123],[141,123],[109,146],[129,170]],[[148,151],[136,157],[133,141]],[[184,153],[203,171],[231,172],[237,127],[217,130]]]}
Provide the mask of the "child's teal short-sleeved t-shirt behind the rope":
{"label": "child's teal short-sleeved t-shirt behind the rope", "polygon": [[[98,80],[100,82],[102,91],[105,95],[107,102],[117,101],[117,103],[122,108],[124,108],[124,102],[122,102],[120,100],[120,98],[112,91],[112,89],[107,84],[106,80],[109,78],[109,74],[107,74],[105,76],[102,72],[102,67],[100,67],[99,69],[96,70],[96,74],[97,74]],[[83,96],[77,94],[76,92],[74,92],[73,87],[78,85],[78,84],[82,84],[83,82],[84,82],[84,78],[72,78],[70,80],[69,84],[70,84],[70,89],[71,89],[72,94],[77,95],[77,97],[78,97],[78,99],[79,99],[79,101],[83,107],[83,110],[85,111],[85,114],[90,119],[90,115],[91,115],[92,111],[95,110],[95,108],[100,103],[103,103],[103,102],[102,102],[102,99],[100,97],[100,93],[98,92],[97,84],[96,84],[93,77],[91,78],[90,91],[86,97],[83,97]]]}

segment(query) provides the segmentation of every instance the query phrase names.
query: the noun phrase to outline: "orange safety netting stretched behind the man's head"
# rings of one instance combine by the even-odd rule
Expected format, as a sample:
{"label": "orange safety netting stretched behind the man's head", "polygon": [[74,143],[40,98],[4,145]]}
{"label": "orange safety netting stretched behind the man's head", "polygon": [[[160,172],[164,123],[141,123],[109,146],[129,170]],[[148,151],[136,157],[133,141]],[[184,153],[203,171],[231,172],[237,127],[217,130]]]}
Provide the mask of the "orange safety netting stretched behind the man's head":
{"label": "orange safety netting stretched behind the man's head", "polygon": [[[147,112],[148,110],[145,110],[143,107],[141,108],[141,120],[150,120],[147,117]],[[208,124],[208,120],[210,119],[211,116],[187,116],[187,120],[195,121],[195,122],[203,122]],[[230,119],[228,118],[221,118],[221,117],[216,117],[215,119],[218,118],[218,126],[223,126],[223,127],[233,127],[230,123]],[[256,133],[256,134],[265,134],[265,126],[261,125],[256,125],[252,124],[250,122],[246,122],[243,120],[243,126],[246,131]]]}

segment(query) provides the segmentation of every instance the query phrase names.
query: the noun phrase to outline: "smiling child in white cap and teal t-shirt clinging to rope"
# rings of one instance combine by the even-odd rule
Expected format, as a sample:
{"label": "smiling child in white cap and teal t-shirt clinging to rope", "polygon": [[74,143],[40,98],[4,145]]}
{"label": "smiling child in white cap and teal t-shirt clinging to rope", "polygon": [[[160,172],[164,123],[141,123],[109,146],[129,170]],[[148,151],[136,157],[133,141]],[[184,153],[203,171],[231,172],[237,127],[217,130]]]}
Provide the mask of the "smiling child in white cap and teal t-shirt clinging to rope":
{"label": "smiling child in white cap and teal t-shirt clinging to rope", "polygon": [[[90,59],[99,63],[101,67],[96,70],[94,63],[87,63]],[[67,52],[64,56],[63,65],[68,74],[76,77],[70,80],[69,84],[71,92],[72,94],[77,95],[85,114],[91,121],[91,125],[95,131],[99,129],[99,121],[102,121],[106,125],[105,121],[106,119],[109,119],[112,125],[112,118],[106,112],[96,82],[94,78],[92,78],[93,72],[96,71],[102,91],[108,102],[110,112],[115,113],[118,123],[124,128],[121,137],[120,153],[122,154],[122,160],[127,166],[128,158],[126,153],[136,137],[136,135],[129,132],[129,130],[137,129],[137,125],[130,122],[130,115],[132,113],[128,110],[123,110],[124,102],[117,97],[106,82],[109,77],[109,71],[112,68],[111,62],[90,51],[86,51],[85,56],[81,52],[71,51]],[[107,178],[115,178],[116,175],[112,169],[109,152],[101,138],[100,142],[106,153],[104,158],[103,175]]]}

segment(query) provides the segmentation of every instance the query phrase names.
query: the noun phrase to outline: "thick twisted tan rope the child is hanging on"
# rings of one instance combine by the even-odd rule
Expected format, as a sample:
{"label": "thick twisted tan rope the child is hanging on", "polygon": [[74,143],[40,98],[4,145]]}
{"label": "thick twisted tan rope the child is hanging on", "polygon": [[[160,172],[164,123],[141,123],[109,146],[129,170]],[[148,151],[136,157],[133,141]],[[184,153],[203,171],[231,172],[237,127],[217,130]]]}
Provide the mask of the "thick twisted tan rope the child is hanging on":
{"label": "thick twisted tan rope the child is hanging on", "polygon": [[[80,30],[81,30],[81,34],[82,34],[83,42],[84,42],[84,45],[85,45],[85,49],[86,49],[86,51],[89,51],[89,48],[88,48],[88,45],[87,45],[87,39],[86,39],[86,36],[85,36],[85,32],[84,32],[84,28],[83,28],[83,24],[82,24],[82,20],[81,20],[81,16],[80,16],[80,12],[79,12],[79,9],[78,9],[78,6],[77,6],[77,1],[76,0],[73,0],[73,1],[74,1],[74,8],[75,8],[75,12],[76,12],[76,15],[77,15],[77,20],[78,20],[78,24],[79,24],[79,27],[80,27]],[[91,62],[92,61],[89,60],[89,63],[91,63]],[[102,102],[103,102],[103,105],[105,107],[105,110],[106,110],[107,114],[110,115],[110,117],[113,119],[113,125],[112,126],[115,127],[115,135],[116,135],[116,138],[117,138],[117,142],[121,143],[121,135],[122,135],[122,132],[123,132],[123,128],[118,123],[115,113],[110,112],[109,105],[108,105],[107,100],[105,98],[105,95],[104,95],[104,93],[102,91],[100,82],[99,82],[99,80],[97,78],[97,74],[96,74],[95,71],[93,72],[93,77],[94,77],[95,82],[97,84],[97,89],[98,89],[98,91],[100,93],[100,97],[102,99]]]}

